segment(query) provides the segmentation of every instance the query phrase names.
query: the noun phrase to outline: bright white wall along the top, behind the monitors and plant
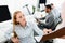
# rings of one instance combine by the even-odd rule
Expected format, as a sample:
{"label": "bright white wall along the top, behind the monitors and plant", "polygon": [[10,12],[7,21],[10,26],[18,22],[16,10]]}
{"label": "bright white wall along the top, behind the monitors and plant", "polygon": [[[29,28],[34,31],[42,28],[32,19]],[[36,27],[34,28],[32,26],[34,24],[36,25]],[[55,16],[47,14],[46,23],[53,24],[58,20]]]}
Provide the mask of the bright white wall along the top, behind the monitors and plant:
{"label": "bright white wall along the top, behind the monitors and plant", "polygon": [[[38,1],[39,0],[0,0],[0,5],[9,5],[10,12],[13,14],[14,11],[22,10],[22,6],[25,4],[37,6]],[[56,8],[61,8],[63,2],[64,0],[47,0],[47,4],[54,3]]]}

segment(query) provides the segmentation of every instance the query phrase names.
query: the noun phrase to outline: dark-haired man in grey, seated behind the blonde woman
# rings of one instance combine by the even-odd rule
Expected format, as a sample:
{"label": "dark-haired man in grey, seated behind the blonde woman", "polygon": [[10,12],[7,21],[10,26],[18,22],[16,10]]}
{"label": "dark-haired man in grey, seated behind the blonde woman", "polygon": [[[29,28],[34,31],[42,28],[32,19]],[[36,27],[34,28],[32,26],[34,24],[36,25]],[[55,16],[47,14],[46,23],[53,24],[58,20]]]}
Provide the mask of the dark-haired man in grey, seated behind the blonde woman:
{"label": "dark-haired man in grey, seated behind the blonde woman", "polygon": [[47,33],[47,31],[52,31],[55,29],[54,28],[54,26],[55,26],[54,15],[51,12],[52,11],[51,9],[52,9],[51,5],[46,5],[46,12],[48,13],[48,15],[43,18],[40,18],[40,19],[46,19],[46,24],[39,22],[39,19],[38,19],[38,23],[42,26],[42,28],[47,28],[47,29],[44,29],[46,33]]}

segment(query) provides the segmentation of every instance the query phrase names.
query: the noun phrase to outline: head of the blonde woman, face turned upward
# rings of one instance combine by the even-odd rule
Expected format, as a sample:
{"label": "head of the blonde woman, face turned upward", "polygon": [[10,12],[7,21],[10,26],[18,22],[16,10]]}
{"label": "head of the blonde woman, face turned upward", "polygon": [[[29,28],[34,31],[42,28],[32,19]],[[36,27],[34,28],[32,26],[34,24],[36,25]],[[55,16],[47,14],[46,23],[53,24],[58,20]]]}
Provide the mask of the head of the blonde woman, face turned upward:
{"label": "head of the blonde woman, face turned upward", "polygon": [[20,25],[22,25],[23,27],[26,26],[25,16],[24,16],[24,14],[23,14],[21,11],[20,11],[20,12],[15,12],[14,19],[15,19],[14,24],[16,24],[16,25],[20,24]]}

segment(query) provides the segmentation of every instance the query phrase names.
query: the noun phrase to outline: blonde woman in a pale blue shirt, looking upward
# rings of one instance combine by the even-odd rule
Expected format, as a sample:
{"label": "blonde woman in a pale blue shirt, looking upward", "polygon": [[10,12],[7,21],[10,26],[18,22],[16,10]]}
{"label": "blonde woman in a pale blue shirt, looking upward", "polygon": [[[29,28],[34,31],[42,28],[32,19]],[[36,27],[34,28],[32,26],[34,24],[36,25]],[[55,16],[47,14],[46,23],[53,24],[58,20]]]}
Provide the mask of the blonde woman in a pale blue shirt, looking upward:
{"label": "blonde woman in a pale blue shirt, looking upward", "polygon": [[34,30],[39,34],[43,35],[43,31],[40,30],[36,24],[26,22],[24,14],[21,11],[16,11],[13,16],[13,23],[15,25],[15,32],[18,37],[14,38],[12,35],[8,35],[13,32],[13,29],[8,31],[6,38],[11,39],[14,43],[36,43],[34,39]]}

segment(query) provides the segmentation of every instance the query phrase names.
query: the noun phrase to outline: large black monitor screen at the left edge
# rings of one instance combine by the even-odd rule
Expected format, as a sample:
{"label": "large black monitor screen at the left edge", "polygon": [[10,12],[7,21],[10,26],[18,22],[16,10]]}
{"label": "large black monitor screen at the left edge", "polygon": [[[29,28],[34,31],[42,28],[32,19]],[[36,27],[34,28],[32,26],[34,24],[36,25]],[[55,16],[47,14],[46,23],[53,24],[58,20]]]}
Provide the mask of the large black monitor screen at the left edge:
{"label": "large black monitor screen at the left edge", "polygon": [[0,5],[0,23],[10,19],[11,19],[11,14],[8,5]]}

